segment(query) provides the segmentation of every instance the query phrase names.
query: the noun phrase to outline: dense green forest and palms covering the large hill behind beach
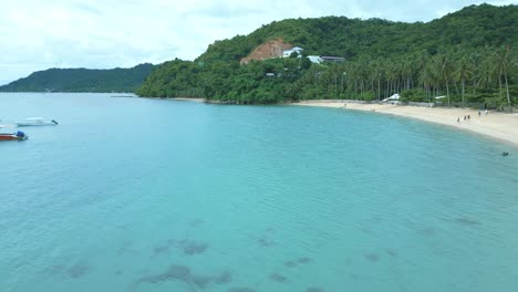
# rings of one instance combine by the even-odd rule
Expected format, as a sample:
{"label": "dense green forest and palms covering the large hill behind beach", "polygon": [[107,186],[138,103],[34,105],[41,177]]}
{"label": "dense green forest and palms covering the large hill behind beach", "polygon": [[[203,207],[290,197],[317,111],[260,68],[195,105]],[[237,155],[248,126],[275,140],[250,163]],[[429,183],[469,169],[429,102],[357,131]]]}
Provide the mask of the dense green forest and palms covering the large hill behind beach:
{"label": "dense green forest and palms covering the large hill behind beach", "polygon": [[[427,23],[289,19],[217,41],[194,62],[165,62],[137,94],[266,104],[377,101],[400,93],[402,101],[504,108],[518,95],[516,20],[517,6],[489,4],[466,7]],[[312,64],[307,58],[278,58],[239,64],[255,48],[276,38],[303,48],[304,54],[346,61]]]}

